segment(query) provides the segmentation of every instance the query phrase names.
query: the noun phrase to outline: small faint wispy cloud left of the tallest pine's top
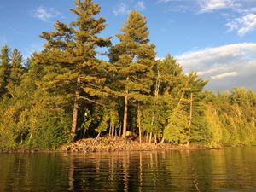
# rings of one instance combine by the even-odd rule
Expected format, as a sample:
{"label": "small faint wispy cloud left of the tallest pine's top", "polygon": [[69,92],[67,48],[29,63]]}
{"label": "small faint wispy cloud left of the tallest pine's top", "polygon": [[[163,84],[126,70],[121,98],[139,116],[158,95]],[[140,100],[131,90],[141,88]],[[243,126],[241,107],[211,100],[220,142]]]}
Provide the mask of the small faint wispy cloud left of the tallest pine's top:
{"label": "small faint wispy cloud left of the tallest pine's top", "polygon": [[58,12],[54,8],[46,9],[43,6],[40,6],[38,7],[38,9],[33,11],[33,16],[43,21],[49,21],[50,19],[58,15],[60,15],[60,12]]}

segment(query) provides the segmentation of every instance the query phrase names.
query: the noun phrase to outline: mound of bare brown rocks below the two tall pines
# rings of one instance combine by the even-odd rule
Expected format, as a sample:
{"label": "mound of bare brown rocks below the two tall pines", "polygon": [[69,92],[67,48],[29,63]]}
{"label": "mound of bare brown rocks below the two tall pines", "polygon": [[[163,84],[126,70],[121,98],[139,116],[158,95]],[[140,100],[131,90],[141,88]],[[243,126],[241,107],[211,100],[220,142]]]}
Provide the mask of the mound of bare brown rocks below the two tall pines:
{"label": "mound of bare brown rocks below the two tall pines", "polygon": [[[201,146],[172,145],[168,143],[139,143],[131,139],[121,137],[100,137],[81,139],[61,147],[65,152],[96,152],[96,151],[148,151],[148,150],[193,150],[207,149]],[[208,148],[209,149],[209,148]]]}

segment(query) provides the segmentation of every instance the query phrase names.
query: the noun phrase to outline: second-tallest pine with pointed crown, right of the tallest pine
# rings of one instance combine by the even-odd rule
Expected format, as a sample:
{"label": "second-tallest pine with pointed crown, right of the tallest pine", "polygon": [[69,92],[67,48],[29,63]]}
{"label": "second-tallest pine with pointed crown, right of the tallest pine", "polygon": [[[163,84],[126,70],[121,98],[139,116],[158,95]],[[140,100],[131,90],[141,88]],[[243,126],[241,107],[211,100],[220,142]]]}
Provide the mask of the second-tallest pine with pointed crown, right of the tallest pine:
{"label": "second-tallest pine with pointed crown, right of the tallest pine", "polygon": [[116,35],[119,44],[110,49],[110,62],[115,70],[116,96],[125,99],[123,137],[126,137],[128,102],[143,102],[150,94],[154,66],[154,44],[148,44],[146,18],[137,11],[131,11],[125,25]]}

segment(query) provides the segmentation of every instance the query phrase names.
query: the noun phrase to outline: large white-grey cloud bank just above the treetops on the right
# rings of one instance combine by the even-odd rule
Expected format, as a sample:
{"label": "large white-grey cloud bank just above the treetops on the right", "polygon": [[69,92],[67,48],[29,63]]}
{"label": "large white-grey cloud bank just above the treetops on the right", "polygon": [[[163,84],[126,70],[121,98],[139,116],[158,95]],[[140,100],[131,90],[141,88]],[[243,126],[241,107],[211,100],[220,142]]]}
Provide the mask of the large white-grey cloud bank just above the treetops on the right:
{"label": "large white-grey cloud bank just above the treetops on the right", "polygon": [[256,44],[228,44],[176,56],[184,72],[195,71],[212,90],[245,86],[256,90]]}

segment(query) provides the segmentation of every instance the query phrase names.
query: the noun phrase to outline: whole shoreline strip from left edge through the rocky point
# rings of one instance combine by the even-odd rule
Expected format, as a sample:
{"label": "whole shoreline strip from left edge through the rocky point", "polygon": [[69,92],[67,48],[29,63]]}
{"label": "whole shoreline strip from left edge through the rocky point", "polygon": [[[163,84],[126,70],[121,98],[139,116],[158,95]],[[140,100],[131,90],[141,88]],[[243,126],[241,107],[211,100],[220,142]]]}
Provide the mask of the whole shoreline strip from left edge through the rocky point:
{"label": "whole shoreline strip from left edge through the rocky point", "polygon": [[115,151],[160,151],[160,150],[212,150],[213,148],[199,144],[171,144],[171,143],[139,143],[137,140],[121,137],[84,138],[73,143],[62,145],[56,150],[36,150],[16,148],[14,150],[0,151],[0,154],[35,154],[35,153],[86,153],[86,152],[115,152]]}

